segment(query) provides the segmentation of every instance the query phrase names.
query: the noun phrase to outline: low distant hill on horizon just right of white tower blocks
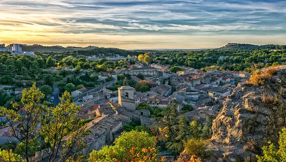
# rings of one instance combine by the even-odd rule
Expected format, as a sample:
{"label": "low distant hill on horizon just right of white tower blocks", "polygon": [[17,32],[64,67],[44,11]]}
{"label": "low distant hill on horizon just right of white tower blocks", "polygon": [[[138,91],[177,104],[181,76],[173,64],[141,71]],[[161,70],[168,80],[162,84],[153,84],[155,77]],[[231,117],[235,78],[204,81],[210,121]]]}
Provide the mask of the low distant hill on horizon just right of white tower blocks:
{"label": "low distant hill on horizon just right of white tower blocks", "polygon": [[77,51],[88,50],[97,48],[95,46],[88,47],[62,47],[62,46],[42,46],[42,45],[22,45],[22,51],[34,51],[34,52],[64,52],[64,51]]}

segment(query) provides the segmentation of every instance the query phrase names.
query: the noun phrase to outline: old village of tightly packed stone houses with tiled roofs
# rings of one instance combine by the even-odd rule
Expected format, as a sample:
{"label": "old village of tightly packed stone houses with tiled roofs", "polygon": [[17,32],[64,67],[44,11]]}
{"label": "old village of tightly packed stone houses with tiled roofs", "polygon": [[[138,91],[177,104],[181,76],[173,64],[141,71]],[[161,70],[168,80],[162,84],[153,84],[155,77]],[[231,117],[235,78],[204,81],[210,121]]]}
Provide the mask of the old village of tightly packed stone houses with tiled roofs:
{"label": "old village of tightly packed stone houses with tiled roofs", "polygon": [[[84,87],[70,93],[76,105],[82,107],[78,117],[89,121],[87,128],[91,134],[84,137],[87,147],[82,152],[89,153],[112,144],[124,131],[124,125],[129,123],[135,122],[140,126],[156,123],[150,109],[137,109],[140,105],[163,109],[175,100],[178,103],[177,111],[182,112],[190,121],[194,118],[205,120],[205,114],[216,116],[233,89],[248,80],[250,75],[248,72],[239,71],[180,68],[182,70],[173,73],[168,66],[137,62],[127,68],[115,69],[113,73],[91,73],[97,75],[99,80],[112,79],[94,89]],[[87,72],[90,71],[81,75]],[[115,91],[111,90],[109,87],[114,86],[118,79],[121,79],[123,86]],[[134,86],[129,85],[129,80],[136,85],[147,83],[150,90],[136,91]],[[5,93],[15,95],[21,95],[25,89],[16,88],[13,91],[12,86],[1,88],[5,89]],[[185,106],[192,107],[192,110],[184,110]],[[0,120],[5,122],[6,119],[0,117]],[[17,141],[10,135],[9,127],[0,130],[0,137],[0,143]],[[45,158],[48,155],[46,151],[36,152],[34,159]]]}

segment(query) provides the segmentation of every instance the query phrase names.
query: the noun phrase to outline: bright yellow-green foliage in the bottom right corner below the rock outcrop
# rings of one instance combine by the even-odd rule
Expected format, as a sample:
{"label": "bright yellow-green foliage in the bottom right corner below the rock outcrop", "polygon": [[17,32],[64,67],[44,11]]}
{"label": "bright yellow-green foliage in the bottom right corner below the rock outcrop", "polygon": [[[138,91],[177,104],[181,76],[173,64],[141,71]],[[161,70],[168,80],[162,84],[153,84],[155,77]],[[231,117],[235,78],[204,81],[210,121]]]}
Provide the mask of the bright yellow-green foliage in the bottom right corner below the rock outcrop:
{"label": "bright yellow-green foliage in the bottom right corner below the rock outcrop", "polygon": [[279,148],[268,142],[269,146],[263,146],[263,156],[257,155],[258,162],[279,162],[284,161],[286,159],[286,128],[282,128],[281,132],[279,132]]}

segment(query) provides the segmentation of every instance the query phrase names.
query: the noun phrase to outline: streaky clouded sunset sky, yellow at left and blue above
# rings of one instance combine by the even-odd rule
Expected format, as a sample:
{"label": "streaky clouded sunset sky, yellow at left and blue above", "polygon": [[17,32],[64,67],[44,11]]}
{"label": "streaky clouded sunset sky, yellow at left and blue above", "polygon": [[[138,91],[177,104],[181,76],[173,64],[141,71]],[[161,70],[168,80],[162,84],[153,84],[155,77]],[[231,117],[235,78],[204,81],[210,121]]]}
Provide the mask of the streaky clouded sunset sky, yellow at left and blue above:
{"label": "streaky clouded sunset sky, yellow at left and blue above", "polygon": [[0,43],[121,49],[286,45],[286,1],[0,0]]}

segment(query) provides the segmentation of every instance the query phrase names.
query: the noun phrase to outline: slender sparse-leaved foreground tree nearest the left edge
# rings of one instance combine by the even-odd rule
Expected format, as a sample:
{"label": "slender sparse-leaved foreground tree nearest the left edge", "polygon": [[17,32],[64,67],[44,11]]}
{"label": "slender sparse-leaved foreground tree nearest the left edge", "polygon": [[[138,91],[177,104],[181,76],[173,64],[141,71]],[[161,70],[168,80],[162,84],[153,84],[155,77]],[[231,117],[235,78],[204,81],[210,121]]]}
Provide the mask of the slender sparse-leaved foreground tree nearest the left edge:
{"label": "slender sparse-leaved foreground tree nearest the left edge", "polygon": [[[33,84],[29,91],[24,89],[22,93],[21,103],[23,104],[23,108],[17,103],[13,104],[13,108],[18,110],[17,112],[13,109],[1,108],[2,115],[7,118],[8,124],[12,128],[12,136],[24,145],[21,148],[23,148],[23,157],[27,161],[30,160],[29,145],[38,138],[37,127],[43,112],[43,106],[39,103],[41,103],[41,98],[43,97],[44,94],[39,89],[36,89],[35,84]],[[14,127],[18,121],[20,121],[19,129]]]}

